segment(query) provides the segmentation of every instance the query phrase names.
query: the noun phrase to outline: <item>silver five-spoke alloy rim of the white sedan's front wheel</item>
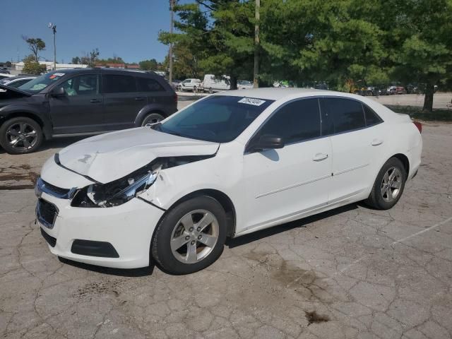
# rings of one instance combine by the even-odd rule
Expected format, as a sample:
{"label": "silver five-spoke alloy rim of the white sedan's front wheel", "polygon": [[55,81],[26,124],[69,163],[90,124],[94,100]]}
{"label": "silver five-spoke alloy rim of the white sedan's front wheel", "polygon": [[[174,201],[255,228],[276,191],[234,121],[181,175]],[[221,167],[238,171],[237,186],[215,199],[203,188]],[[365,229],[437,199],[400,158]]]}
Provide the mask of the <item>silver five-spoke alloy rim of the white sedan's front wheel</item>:
{"label": "silver five-spoke alloy rim of the white sedan's front wheel", "polygon": [[218,220],[208,210],[193,210],[174,226],[170,246],[174,258],[182,263],[198,263],[218,242]]}

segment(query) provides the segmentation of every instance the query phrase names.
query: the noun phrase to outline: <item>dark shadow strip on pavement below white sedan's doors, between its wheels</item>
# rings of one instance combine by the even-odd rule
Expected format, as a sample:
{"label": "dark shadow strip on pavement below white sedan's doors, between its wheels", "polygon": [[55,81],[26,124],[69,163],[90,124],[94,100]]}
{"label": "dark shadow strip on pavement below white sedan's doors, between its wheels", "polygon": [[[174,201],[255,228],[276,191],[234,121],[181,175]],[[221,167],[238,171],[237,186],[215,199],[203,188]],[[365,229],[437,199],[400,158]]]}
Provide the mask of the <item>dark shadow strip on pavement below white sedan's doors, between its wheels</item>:
{"label": "dark shadow strip on pavement below white sedan's doors, between its wheels", "polygon": [[292,228],[307,227],[307,225],[309,225],[311,222],[316,222],[319,220],[330,218],[333,215],[338,215],[340,213],[344,213],[349,210],[355,210],[358,208],[358,206],[360,206],[359,203],[351,203],[350,205],[342,206],[339,208],[334,208],[333,210],[328,210],[323,213],[311,215],[310,217],[307,217],[307,218],[294,220],[291,222],[286,222],[283,225],[273,226],[270,228],[266,228],[265,230],[245,234],[245,235],[242,235],[242,237],[238,237],[238,238],[234,238],[234,239],[227,239],[226,246],[228,246],[230,249],[233,249],[234,247],[237,247],[237,246],[242,246],[244,244],[256,242],[256,241],[264,239],[266,237],[271,237],[272,235],[283,233],[288,230],[292,230]]}

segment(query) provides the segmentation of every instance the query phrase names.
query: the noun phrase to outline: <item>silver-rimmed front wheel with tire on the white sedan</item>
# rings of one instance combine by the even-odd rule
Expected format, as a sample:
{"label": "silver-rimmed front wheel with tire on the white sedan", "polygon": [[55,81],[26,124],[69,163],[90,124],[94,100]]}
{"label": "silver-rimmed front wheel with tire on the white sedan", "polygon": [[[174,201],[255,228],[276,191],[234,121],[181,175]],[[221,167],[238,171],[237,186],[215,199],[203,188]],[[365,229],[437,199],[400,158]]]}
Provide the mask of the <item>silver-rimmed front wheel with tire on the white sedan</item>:
{"label": "silver-rimmed front wheel with tire on the white sedan", "polygon": [[151,253],[168,273],[194,273],[221,255],[226,230],[225,210],[218,201],[210,196],[191,198],[160,220]]}

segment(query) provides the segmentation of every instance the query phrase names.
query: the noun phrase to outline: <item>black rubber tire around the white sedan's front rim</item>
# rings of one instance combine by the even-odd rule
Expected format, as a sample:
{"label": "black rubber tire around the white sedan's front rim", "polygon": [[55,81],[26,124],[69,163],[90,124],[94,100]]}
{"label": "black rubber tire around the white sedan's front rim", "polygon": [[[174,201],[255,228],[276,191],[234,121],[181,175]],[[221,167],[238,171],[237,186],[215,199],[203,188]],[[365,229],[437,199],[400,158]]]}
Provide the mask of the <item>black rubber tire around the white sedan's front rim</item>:
{"label": "black rubber tire around the white sedan's front rim", "polygon": [[[196,263],[183,263],[173,254],[170,242],[171,239],[173,239],[173,231],[177,230],[177,227],[181,227],[180,225],[182,225],[179,221],[187,214],[196,210],[206,210],[208,213],[212,213],[215,216],[216,221],[218,222],[218,238],[215,245],[210,249],[204,258],[201,258]],[[206,229],[208,227],[206,227]],[[213,225],[210,227],[213,227]],[[167,273],[176,275],[194,273],[210,266],[210,264],[215,262],[220,257],[226,241],[226,234],[226,215],[225,210],[222,208],[220,203],[210,196],[198,196],[179,203],[179,205],[174,206],[171,210],[167,211],[155,230],[151,245],[151,253],[154,260]],[[193,240],[191,240],[191,242],[193,242]],[[187,242],[186,245],[182,245],[180,247],[182,250],[186,249],[187,258],[189,244],[190,242]],[[184,246],[186,246],[186,248],[184,248]],[[196,246],[203,246],[203,244],[201,244],[201,242],[196,242]],[[201,247],[196,248],[197,254],[201,253],[198,252],[198,249],[201,249]]]}

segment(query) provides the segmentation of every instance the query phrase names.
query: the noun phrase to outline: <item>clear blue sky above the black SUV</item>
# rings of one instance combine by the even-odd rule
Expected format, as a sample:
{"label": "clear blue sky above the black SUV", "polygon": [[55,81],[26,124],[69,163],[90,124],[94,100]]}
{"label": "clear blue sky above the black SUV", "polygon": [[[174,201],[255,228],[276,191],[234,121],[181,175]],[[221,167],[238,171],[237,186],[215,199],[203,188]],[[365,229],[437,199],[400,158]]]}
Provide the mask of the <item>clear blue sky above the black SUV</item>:
{"label": "clear blue sky above the black SUV", "polygon": [[59,62],[68,63],[96,47],[101,58],[115,54],[126,62],[163,61],[167,54],[157,35],[169,30],[168,0],[14,0],[2,7],[7,11],[0,18],[0,61],[30,54],[22,35],[44,40],[46,50],[40,55],[53,60],[49,22],[57,25]]}

